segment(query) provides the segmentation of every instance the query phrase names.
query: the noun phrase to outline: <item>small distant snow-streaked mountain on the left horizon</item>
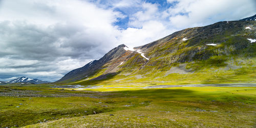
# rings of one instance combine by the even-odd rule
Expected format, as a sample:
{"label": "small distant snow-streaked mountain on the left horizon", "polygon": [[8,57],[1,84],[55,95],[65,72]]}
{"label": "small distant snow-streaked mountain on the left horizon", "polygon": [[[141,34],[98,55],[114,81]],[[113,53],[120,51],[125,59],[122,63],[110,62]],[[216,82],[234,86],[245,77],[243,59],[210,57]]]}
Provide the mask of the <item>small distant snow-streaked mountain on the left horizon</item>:
{"label": "small distant snow-streaked mountain on the left horizon", "polygon": [[31,79],[31,78],[24,77],[24,76],[9,81],[9,83],[18,83],[18,82],[34,83],[34,84],[49,83],[48,81],[42,81],[42,80],[39,80],[39,79]]}

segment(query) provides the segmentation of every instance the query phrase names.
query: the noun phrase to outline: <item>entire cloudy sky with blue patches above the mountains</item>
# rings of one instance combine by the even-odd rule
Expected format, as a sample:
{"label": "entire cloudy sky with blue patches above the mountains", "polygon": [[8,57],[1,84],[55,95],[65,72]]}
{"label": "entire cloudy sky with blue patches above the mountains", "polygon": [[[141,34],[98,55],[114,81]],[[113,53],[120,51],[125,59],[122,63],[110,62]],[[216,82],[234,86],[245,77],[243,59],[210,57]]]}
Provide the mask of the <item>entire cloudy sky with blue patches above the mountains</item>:
{"label": "entire cloudy sky with blue patches above the mountains", "polygon": [[118,45],[256,14],[254,0],[0,0],[0,80],[56,81]]}

